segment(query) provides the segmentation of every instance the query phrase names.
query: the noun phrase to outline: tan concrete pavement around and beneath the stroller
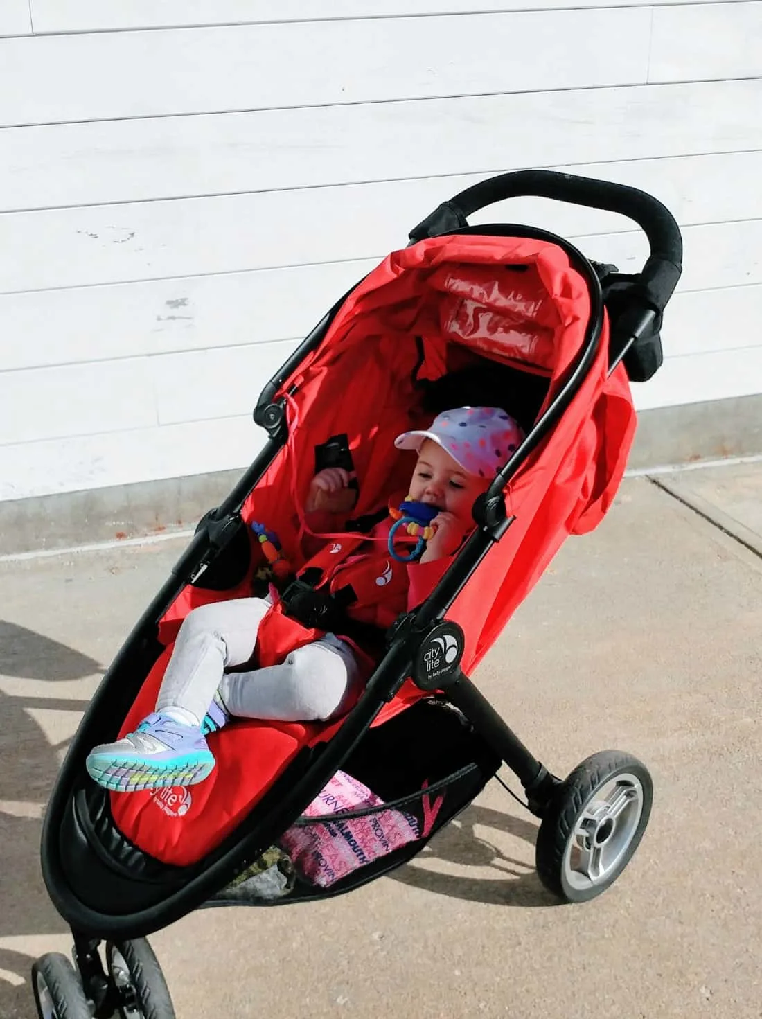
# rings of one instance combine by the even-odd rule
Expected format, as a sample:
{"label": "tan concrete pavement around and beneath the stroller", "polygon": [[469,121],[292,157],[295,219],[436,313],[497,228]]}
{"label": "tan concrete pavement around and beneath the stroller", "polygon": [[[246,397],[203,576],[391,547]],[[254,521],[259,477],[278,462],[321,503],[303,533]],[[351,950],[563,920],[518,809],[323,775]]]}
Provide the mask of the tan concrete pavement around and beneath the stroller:
{"label": "tan concrete pavement around and beneath the stroller", "polygon": [[[625,481],[476,676],[556,773],[613,747],[651,768],[651,823],[612,889],[555,904],[536,820],[492,783],[390,877],[154,935],[179,1019],[760,1019],[761,507],[762,463]],[[70,947],[39,873],[58,761],[182,544],[0,562],[3,1019],[34,1016],[31,963]]]}

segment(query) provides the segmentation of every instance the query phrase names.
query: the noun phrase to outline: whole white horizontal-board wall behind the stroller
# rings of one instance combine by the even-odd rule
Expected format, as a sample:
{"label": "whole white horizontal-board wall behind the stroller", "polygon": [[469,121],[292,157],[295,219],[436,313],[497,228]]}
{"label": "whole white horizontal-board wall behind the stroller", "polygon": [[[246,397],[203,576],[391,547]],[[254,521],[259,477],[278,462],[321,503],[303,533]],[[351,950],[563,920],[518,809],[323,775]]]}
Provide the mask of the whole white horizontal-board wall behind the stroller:
{"label": "whole white horizontal-board wall behind the stroller", "polygon": [[[262,384],[330,305],[523,166],[682,223],[639,409],[762,391],[762,2],[458,6],[0,0],[0,37],[41,34],[0,38],[0,499],[242,468]],[[596,210],[474,221],[647,255]]]}

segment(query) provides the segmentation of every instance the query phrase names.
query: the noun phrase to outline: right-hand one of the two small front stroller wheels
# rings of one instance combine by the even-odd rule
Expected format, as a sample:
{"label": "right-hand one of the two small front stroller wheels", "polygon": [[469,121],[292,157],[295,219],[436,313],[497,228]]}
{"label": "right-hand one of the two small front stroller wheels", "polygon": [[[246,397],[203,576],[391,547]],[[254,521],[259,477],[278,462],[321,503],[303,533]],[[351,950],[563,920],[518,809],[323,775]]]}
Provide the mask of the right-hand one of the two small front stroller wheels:
{"label": "right-hand one of the two small front stroller wheels", "polygon": [[175,1019],[161,966],[145,937],[108,942],[106,965],[121,1019]]}

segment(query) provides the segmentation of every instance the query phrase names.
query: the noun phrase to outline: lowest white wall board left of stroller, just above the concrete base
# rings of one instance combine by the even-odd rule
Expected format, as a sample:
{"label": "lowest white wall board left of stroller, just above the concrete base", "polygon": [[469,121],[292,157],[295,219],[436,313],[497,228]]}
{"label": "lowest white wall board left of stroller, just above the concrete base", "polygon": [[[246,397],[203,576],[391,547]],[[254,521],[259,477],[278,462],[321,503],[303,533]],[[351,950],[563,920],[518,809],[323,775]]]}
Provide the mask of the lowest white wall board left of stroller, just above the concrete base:
{"label": "lowest white wall board left of stroller, just above the concrete base", "polygon": [[0,446],[0,501],[238,468],[266,438],[246,415]]}

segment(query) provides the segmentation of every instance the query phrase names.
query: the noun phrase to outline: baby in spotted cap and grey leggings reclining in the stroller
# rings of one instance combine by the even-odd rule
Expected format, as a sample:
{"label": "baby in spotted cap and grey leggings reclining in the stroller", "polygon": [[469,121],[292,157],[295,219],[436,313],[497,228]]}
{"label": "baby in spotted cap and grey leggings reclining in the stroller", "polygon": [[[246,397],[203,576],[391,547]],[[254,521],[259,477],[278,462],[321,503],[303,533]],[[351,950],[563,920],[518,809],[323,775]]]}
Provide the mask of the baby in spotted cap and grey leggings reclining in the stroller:
{"label": "baby in spotted cap and grey leggings reclining in the stroller", "polygon": [[[398,435],[397,448],[418,453],[407,500],[438,509],[432,520],[435,531],[418,562],[389,556],[386,539],[394,521],[388,518],[369,535],[359,536],[357,547],[349,543],[344,554],[333,555],[337,543],[323,542],[303,571],[319,562],[321,589],[334,593],[350,588],[356,595],[357,601],[344,609],[347,621],[386,629],[406,610],[420,565],[449,556],[460,546],[474,526],[474,501],[522,438],[513,419],[491,407],[445,411],[427,430]],[[309,524],[317,518],[325,523],[326,515],[335,519],[346,509],[349,481],[342,468],[327,468],[313,478],[305,504]],[[230,716],[313,721],[348,710],[363,686],[358,645],[348,637],[324,633],[279,664],[229,672],[250,661],[263,621],[266,626],[266,618],[277,610],[283,611],[282,605],[276,601],[273,606],[268,597],[231,599],[190,611],[177,635],[156,710],[134,733],[96,747],[87,759],[90,775],[116,792],[190,786],[214,768],[206,737]]]}

